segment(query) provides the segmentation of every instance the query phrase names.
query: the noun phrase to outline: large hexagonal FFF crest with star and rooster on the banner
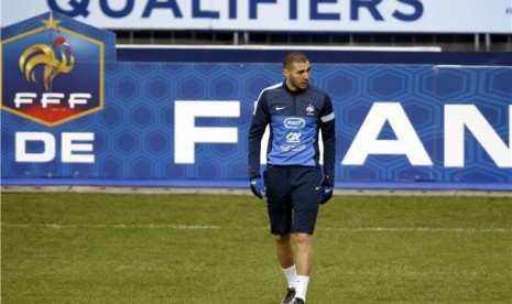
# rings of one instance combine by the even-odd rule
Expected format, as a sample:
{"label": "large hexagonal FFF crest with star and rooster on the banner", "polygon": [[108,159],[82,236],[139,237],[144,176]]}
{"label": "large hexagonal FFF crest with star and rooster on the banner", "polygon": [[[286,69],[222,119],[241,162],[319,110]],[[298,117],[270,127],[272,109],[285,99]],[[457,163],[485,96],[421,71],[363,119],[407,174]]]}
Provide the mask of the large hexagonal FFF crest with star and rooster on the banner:
{"label": "large hexagonal FFF crest with star and rooster on the banner", "polygon": [[[53,13],[1,41],[1,108],[54,127],[104,108],[105,44]],[[32,25],[32,26],[31,26]]]}

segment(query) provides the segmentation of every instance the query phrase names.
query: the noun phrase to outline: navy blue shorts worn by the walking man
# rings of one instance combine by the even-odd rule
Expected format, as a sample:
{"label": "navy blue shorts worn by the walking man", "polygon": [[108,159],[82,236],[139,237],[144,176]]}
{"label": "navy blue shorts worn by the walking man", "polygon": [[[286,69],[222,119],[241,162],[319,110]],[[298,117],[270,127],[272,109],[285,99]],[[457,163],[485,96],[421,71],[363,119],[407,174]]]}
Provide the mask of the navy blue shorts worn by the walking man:
{"label": "navy blue shorts worn by the walking man", "polygon": [[320,169],[271,166],[263,175],[271,232],[313,235],[322,196]]}

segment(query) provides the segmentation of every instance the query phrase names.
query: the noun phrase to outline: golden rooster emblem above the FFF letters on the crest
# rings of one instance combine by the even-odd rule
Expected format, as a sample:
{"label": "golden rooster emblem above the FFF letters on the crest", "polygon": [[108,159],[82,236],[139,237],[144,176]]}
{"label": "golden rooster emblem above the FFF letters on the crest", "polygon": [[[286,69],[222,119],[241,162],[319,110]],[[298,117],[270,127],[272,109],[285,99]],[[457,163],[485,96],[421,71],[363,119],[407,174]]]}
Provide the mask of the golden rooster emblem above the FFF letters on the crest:
{"label": "golden rooster emblem above the FFF letters on the crest", "polygon": [[[58,59],[54,48],[61,56]],[[20,70],[25,75],[28,82],[37,83],[35,67],[43,66],[43,83],[46,91],[50,90],[50,82],[59,74],[68,74],[75,67],[75,57],[72,47],[65,37],[58,36],[53,42],[53,47],[37,43],[26,48],[20,56]]]}

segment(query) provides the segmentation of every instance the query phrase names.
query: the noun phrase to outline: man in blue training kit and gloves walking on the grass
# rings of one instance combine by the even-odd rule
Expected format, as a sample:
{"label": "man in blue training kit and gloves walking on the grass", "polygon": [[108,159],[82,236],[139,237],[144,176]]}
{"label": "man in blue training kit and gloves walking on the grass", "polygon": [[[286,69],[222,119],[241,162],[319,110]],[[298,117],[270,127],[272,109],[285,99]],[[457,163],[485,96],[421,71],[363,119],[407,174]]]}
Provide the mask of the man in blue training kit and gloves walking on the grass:
{"label": "man in blue training kit and gloves walking on the grass", "polygon": [[[319,204],[333,196],[336,134],[330,97],[309,85],[311,64],[301,52],[283,61],[285,82],[263,89],[249,131],[252,193],[266,195],[271,234],[288,287],[282,303],[305,303],[312,268],[312,237]],[[266,170],[260,175],[261,139],[270,124]],[[324,142],[319,165],[318,134]],[[296,261],[292,249],[295,235]]]}

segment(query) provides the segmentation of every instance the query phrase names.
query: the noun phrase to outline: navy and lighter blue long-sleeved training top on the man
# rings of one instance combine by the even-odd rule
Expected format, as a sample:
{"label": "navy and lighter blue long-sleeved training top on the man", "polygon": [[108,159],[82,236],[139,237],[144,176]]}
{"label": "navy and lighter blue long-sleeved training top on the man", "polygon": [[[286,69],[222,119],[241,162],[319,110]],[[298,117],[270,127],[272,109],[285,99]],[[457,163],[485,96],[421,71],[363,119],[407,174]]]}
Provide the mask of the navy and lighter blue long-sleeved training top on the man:
{"label": "navy and lighter blue long-sleeved training top on the man", "polygon": [[292,91],[285,83],[263,89],[249,131],[249,177],[260,174],[261,139],[270,124],[266,164],[319,165],[318,133],[324,142],[324,174],[334,177],[335,115],[330,97],[308,85]]}

